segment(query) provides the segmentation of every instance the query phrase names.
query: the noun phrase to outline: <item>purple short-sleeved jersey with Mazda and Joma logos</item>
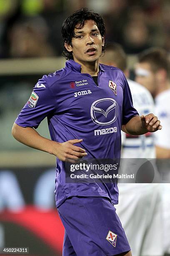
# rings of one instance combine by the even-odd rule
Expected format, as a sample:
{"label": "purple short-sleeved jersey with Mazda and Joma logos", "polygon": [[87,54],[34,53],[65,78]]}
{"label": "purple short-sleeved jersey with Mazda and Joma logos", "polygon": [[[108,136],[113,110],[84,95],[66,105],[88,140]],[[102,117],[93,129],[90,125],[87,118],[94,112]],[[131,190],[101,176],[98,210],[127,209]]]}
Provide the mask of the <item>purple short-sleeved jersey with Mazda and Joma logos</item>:
{"label": "purple short-sleeved jersey with Mazda and Joma logos", "polygon": [[[90,74],[81,73],[80,64],[70,60],[63,69],[38,80],[15,123],[37,128],[47,117],[53,141],[82,138],[75,145],[86,150],[85,159],[120,159],[121,125],[135,115],[120,69],[100,64],[97,86]],[[118,203],[116,183],[66,183],[65,163],[59,159],[55,184],[57,207],[71,196],[108,197]]]}

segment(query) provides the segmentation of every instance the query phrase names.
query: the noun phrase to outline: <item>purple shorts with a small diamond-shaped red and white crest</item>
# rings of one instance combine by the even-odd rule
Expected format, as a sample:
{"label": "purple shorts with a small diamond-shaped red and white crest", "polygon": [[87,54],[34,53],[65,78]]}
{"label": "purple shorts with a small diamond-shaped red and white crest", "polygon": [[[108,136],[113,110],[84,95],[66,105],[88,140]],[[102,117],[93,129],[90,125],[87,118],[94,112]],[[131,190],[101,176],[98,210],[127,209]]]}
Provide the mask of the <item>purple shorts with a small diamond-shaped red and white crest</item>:
{"label": "purple shorts with a small diamond-shaped red and white crest", "polygon": [[70,197],[57,210],[65,227],[63,256],[112,256],[130,251],[109,199]]}

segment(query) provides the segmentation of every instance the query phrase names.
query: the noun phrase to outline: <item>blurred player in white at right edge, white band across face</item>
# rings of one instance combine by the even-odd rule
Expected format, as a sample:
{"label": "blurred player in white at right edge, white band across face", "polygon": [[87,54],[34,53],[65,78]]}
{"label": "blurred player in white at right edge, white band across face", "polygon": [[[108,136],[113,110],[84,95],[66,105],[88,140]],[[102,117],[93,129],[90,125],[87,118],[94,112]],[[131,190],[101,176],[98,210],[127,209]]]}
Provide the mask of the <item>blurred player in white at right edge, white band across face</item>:
{"label": "blurred player in white at right edge, white band across face", "polygon": [[[135,69],[136,81],[143,84],[155,98],[155,112],[161,118],[163,131],[155,133],[156,156],[170,159],[170,61],[168,53],[160,48],[143,51]],[[170,166],[160,164],[160,171],[170,174]],[[168,176],[167,175],[167,176]],[[169,176],[170,177],[170,176]],[[169,180],[168,180],[169,182]],[[170,184],[162,184],[164,250],[170,253]]]}

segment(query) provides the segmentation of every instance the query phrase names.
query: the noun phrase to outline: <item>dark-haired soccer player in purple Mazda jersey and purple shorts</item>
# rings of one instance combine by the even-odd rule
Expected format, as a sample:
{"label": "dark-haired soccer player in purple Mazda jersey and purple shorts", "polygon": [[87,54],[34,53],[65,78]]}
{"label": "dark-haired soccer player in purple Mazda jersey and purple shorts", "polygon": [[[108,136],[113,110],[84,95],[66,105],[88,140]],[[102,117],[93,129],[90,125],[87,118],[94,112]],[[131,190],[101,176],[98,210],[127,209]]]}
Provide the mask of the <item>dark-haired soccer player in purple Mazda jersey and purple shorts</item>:
{"label": "dark-haired soccer player in purple Mazda jersey and purple shorts", "polygon": [[[65,227],[63,255],[130,256],[115,213],[117,184],[67,183],[65,165],[82,157],[119,159],[121,128],[137,135],[162,125],[153,114],[138,115],[122,71],[99,64],[105,47],[99,14],[77,10],[64,21],[62,36],[65,67],[37,82],[12,133],[18,141],[57,156],[55,200]],[[45,117],[51,141],[35,131]]]}

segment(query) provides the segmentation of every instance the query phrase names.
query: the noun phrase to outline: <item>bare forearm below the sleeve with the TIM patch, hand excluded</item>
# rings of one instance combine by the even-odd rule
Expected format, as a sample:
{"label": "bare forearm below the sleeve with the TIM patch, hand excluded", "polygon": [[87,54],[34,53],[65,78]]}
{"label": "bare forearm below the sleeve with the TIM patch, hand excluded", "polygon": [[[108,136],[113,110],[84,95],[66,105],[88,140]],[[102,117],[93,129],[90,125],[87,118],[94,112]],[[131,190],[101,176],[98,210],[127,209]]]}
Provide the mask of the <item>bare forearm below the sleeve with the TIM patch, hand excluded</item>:
{"label": "bare forearm below the sleeve with the TIM patch, hand excluded", "polygon": [[40,136],[34,128],[24,128],[15,123],[13,125],[12,134],[17,141],[20,141],[31,148],[45,151],[50,154],[53,154],[53,147],[55,146],[56,148],[57,142]]}

